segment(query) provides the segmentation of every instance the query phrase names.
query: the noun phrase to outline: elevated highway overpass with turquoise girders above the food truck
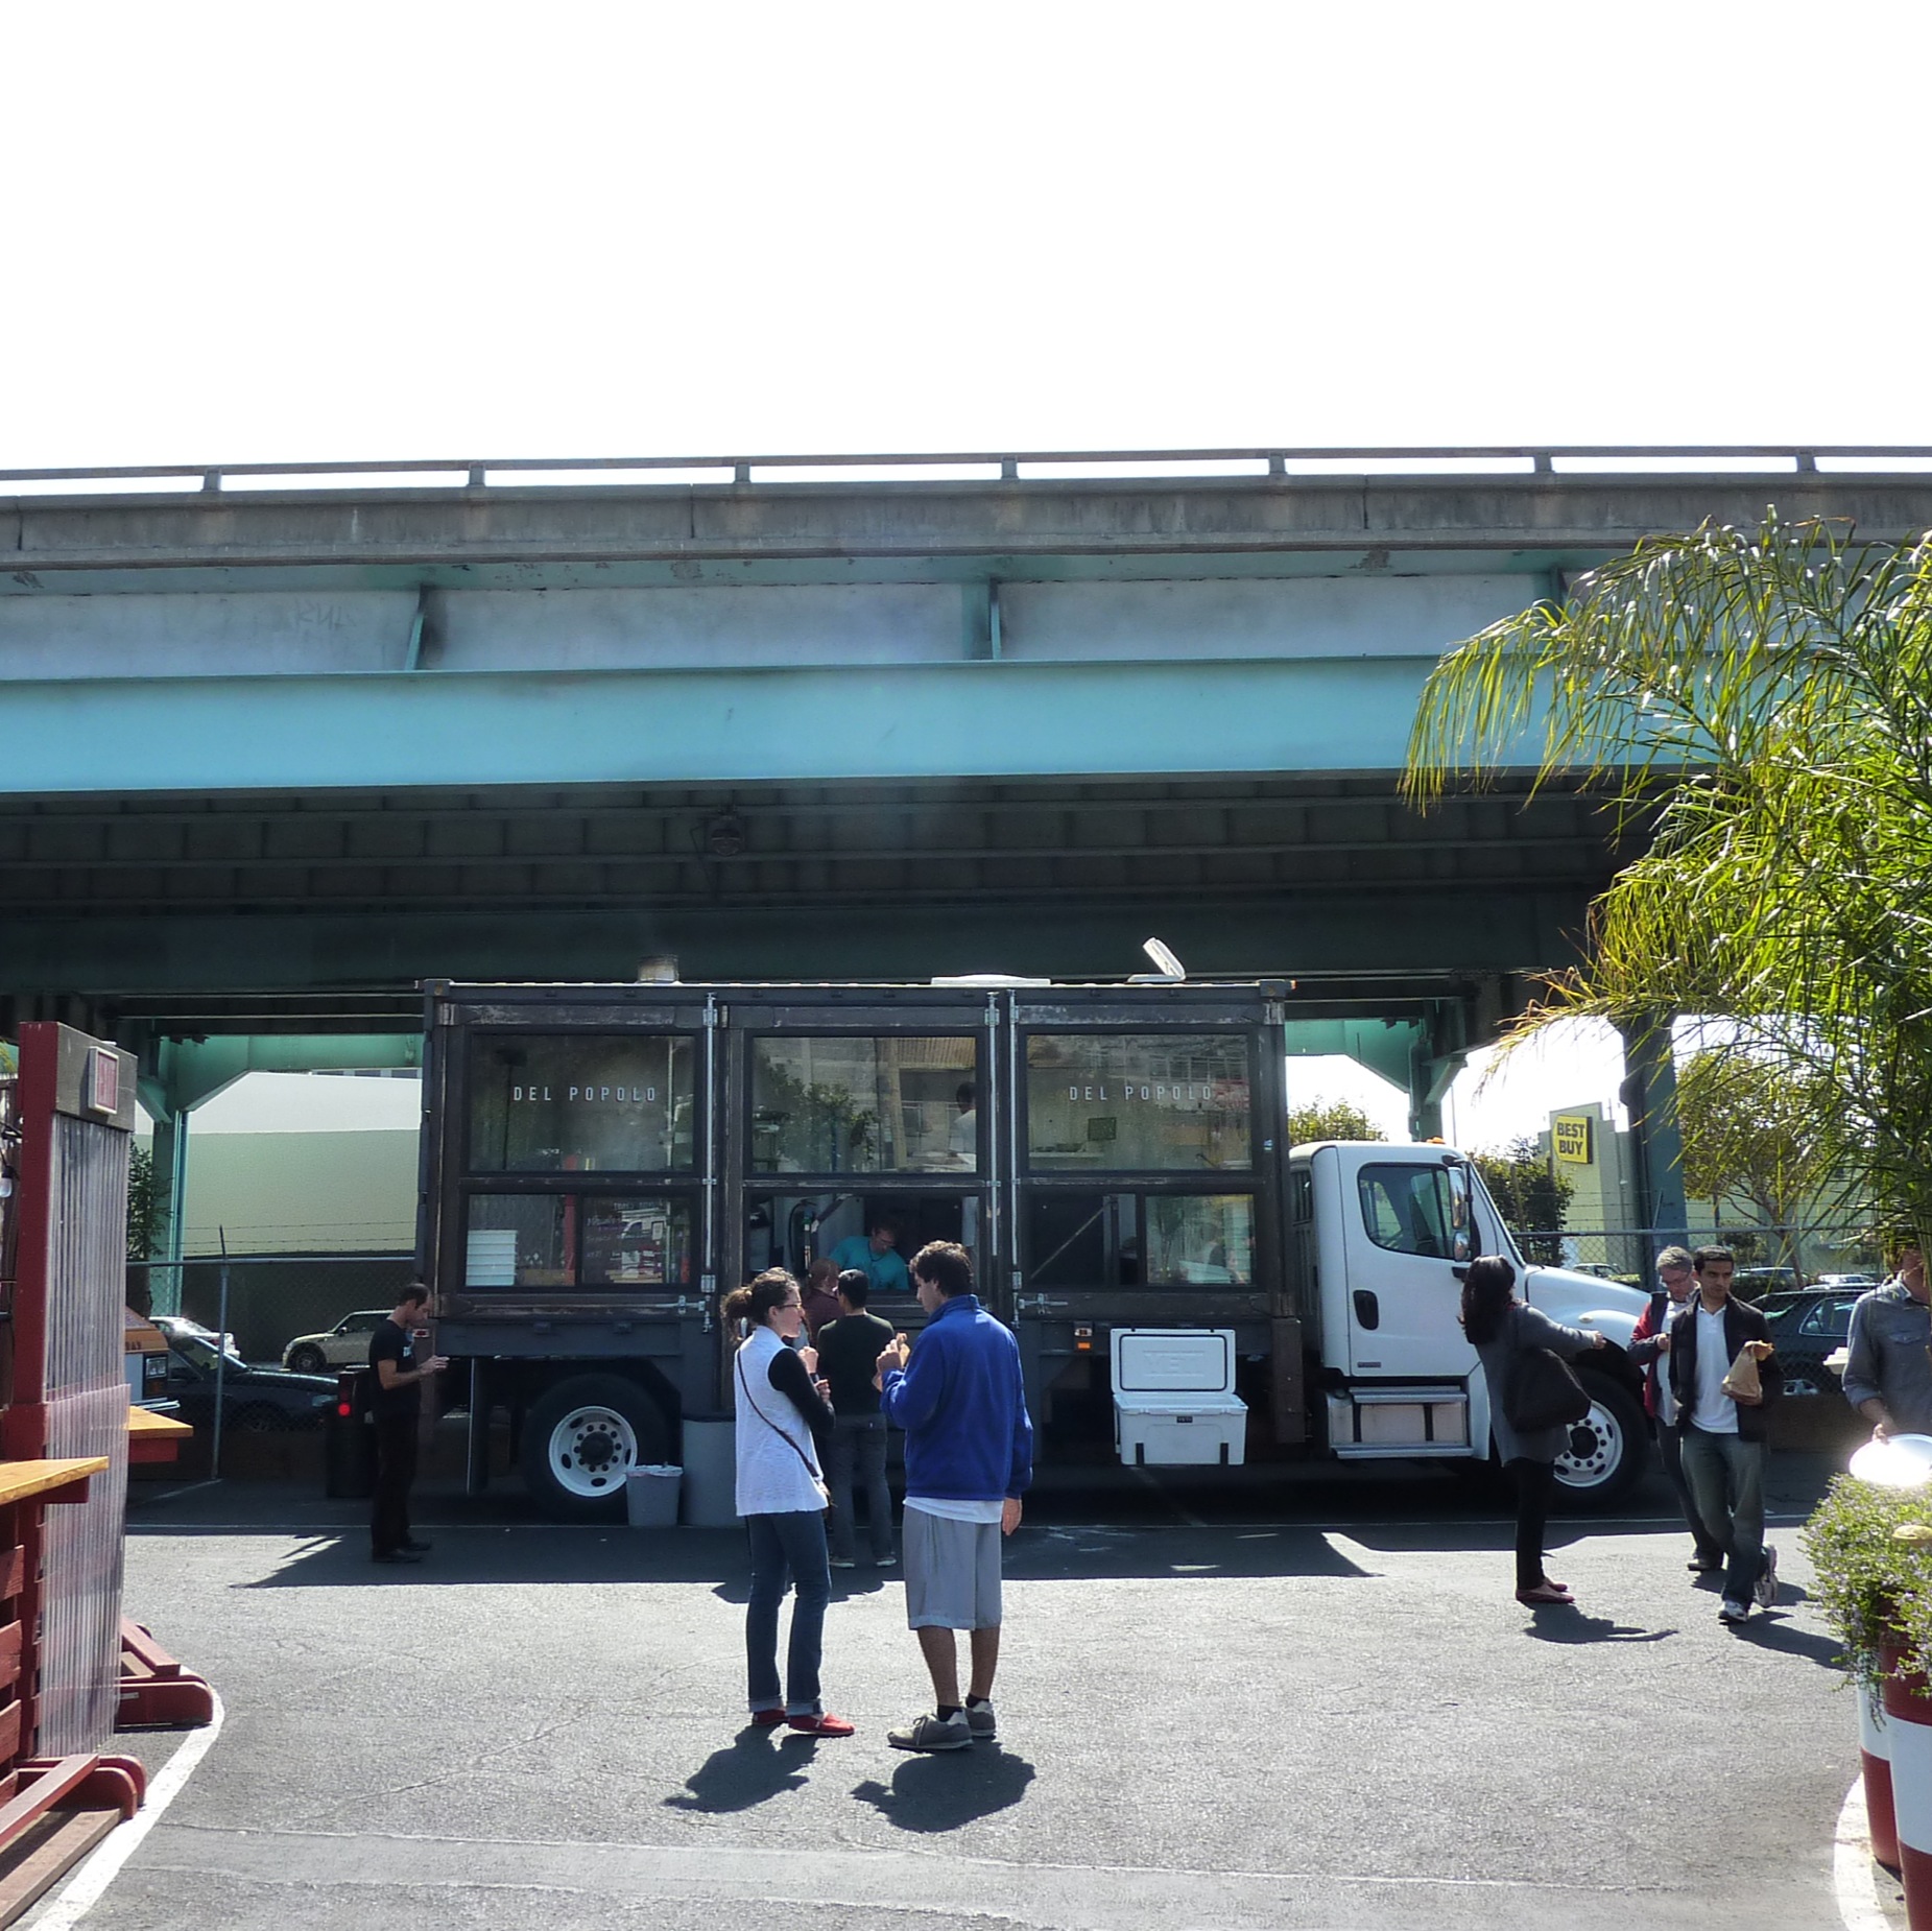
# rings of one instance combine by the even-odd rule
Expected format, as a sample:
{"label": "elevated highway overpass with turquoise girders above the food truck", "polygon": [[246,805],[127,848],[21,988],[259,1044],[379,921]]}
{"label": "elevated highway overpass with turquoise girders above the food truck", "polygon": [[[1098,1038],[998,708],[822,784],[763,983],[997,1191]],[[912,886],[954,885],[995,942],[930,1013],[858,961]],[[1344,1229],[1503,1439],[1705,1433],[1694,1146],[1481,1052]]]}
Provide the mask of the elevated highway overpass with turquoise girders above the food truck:
{"label": "elevated highway overpass with turquoise girders above the food truck", "polygon": [[6,474],[0,1001],[143,1050],[166,1121],[406,1059],[419,978],[1115,976],[1157,932],[1294,978],[1432,1127],[1617,850],[1573,789],[1410,812],[1428,667],[1706,516],[1918,532],[1928,454]]}

